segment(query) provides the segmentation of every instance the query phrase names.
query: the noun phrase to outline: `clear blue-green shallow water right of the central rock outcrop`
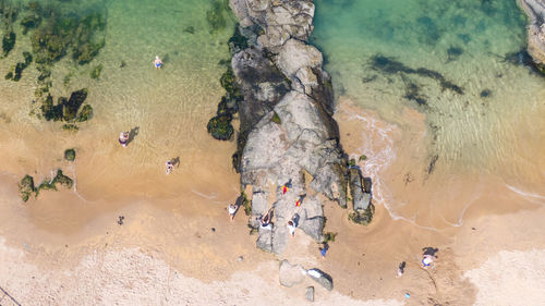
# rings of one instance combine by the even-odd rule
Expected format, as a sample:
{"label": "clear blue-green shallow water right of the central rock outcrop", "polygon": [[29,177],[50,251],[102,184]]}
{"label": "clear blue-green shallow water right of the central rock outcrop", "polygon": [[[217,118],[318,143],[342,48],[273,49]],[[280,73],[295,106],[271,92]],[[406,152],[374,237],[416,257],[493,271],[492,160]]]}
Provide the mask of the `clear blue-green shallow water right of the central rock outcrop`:
{"label": "clear blue-green shallow water right of the central rock outcrop", "polygon": [[[408,108],[425,115],[427,140],[417,150],[396,147],[384,137],[384,144],[378,146],[382,151],[370,151],[371,144],[361,144],[360,154],[370,157],[362,162],[368,171],[366,175],[382,183],[382,187],[376,185],[376,198],[390,201],[385,204],[393,210],[398,207],[400,215],[404,209],[401,207],[412,206],[408,211],[415,215],[404,217],[415,220],[420,212],[414,207],[428,211],[429,206],[441,205],[434,200],[432,192],[451,194],[445,205],[460,212],[459,220],[448,218],[450,223],[457,223],[471,205],[468,198],[479,197],[489,185],[485,179],[480,181],[488,175],[502,181],[506,191],[524,191],[534,195],[531,200],[543,201],[545,78],[512,57],[525,48],[526,39],[526,20],[514,0],[315,3],[312,42],[325,54],[325,69],[332,76],[337,98],[348,98],[362,109],[374,111],[379,120],[400,131],[413,124],[404,115]],[[380,71],[373,65],[377,57],[400,62],[410,72]],[[433,76],[440,74],[463,93],[441,88],[429,73],[414,73],[419,69],[436,72]],[[417,88],[412,97],[410,88]],[[370,120],[364,122],[368,124]],[[409,136],[405,133],[401,138]],[[419,203],[399,199],[422,192],[420,187],[408,187],[401,197],[399,192],[393,192],[393,197],[385,195],[391,182],[384,182],[378,174],[387,167],[384,163],[399,157],[413,163],[408,167],[413,172],[399,169],[396,179],[403,180],[405,175],[405,185],[414,178],[417,184],[433,185],[428,204],[420,203],[422,197]],[[373,162],[383,164],[370,166]],[[470,189],[457,189],[465,185],[452,178],[476,183]],[[464,194],[470,196],[461,196]]]}

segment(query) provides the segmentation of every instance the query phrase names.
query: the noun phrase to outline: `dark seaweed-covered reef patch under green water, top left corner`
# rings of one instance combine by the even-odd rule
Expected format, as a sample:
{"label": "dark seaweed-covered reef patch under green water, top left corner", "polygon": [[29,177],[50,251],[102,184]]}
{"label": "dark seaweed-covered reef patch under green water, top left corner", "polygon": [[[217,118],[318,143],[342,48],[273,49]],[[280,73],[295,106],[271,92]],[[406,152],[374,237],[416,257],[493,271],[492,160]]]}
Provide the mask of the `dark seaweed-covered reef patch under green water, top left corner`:
{"label": "dark seaweed-covered reef patch under green water, top left corner", "polygon": [[[22,36],[28,35],[32,44],[32,52],[23,52],[24,61],[14,64],[4,78],[20,81],[23,71],[34,62],[38,77],[31,114],[46,120],[71,122],[70,130],[76,131],[74,122],[86,121],[93,114],[92,107],[85,105],[76,115],[82,106],[78,101],[85,100],[87,93],[85,90],[84,95],[74,97],[82,93],[77,90],[72,93],[70,99],[60,97],[58,103],[53,103],[50,94],[53,84],[51,71],[53,65],[66,56],[72,58],[76,66],[87,65],[95,59],[105,46],[106,14],[104,8],[97,3],[72,5],[63,2],[66,1],[0,1],[3,56],[10,53]],[[21,26],[16,25],[17,22]],[[90,77],[98,79],[101,70],[101,65],[96,65],[89,73]],[[68,82],[70,77],[65,77],[64,86]]]}

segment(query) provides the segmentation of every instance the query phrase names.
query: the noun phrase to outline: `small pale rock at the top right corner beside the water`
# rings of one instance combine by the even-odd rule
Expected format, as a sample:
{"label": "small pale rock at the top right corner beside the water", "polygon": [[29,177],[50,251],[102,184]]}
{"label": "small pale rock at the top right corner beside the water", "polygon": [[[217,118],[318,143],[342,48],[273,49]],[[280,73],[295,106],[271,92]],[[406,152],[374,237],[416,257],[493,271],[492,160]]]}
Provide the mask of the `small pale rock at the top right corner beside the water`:
{"label": "small pale rock at the top right corner beside the water", "polygon": [[529,16],[528,52],[543,69],[545,64],[545,1],[517,0]]}

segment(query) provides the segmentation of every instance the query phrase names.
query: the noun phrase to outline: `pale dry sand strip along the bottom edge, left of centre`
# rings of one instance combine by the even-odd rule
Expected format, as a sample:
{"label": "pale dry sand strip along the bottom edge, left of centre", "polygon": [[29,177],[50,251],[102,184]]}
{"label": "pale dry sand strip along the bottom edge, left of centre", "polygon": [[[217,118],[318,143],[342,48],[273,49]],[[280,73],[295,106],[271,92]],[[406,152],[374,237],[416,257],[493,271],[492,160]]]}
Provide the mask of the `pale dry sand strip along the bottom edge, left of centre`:
{"label": "pale dry sand strip along the bottom edge, left of centre", "polygon": [[[0,282],[22,305],[303,305],[304,291],[286,291],[276,261],[255,271],[235,272],[226,281],[205,283],[184,277],[165,261],[137,248],[94,252],[74,267],[41,269],[27,264],[23,250],[0,238]],[[313,305],[402,305],[393,299],[361,302],[315,286]],[[8,298],[8,297],[4,297]],[[8,301],[8,299],[5,299]]]}

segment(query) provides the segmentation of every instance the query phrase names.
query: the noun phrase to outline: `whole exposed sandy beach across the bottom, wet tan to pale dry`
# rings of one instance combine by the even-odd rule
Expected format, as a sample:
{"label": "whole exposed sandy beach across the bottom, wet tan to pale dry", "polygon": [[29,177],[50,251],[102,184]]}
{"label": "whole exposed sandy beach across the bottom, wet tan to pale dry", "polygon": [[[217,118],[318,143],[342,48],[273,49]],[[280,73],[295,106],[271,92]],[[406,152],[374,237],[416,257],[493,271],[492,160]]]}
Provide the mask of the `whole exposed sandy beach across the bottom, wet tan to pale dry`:
{"label": "whole exposed sandy beach across the bottom, wet tan to pale dry", "polygon": [[[361,154],[358,149],[362,135],[376,139],[382,136],[368,132],[362,124],[353,126],[347,117],[354,113],[368,115],[343,101],[337,120],[344,149]],[[380,124],[378,118],[374,120]],[[414,131],[412,134],[419,139],[422,133],[416,127],[409,131]],[[350,137],[346,136],[348,133]],[[270,304],[279,301],[303,304],[307,285],[315,285],[317,304],[324,305],[426,305],[432,302],[509,305],[521,298],[521,294],[529,305],[538,305],[542,301],[540,292],[532,287],[545,283],[540,270],[543,257],[536,256],[545,249],[545,243],[535,241],[545,234],[541,223],[545,216],[543,205],[519,199],[513,208],[501,206],[502,201],[487,205],[487,198],[483,198],[465,210],[459,227],[439,222],[437,229],[431,230],[419,224],[421,219],[392,219],[379,203],[376,203],[374,222],[367,228],[360,227],[348,221],[347,210],[327,203],[326,231],[338,235],[326,258],[319,256],[319,245],[299,232],[286,254],[275,258],[255,248],[255,237],[247,234],[242,211],[234,222],[229,221],[226,208],[238,194],[237,185],[231,185],[237,182],[237,175],[221,164],[229,160],[227,148],[233,144],[209,142],[223,146],[217,150],[220,162],[202,167],[214,169],[208,171],[214,173],[211,181],[216,185],[204,184],[196,193],[187,191],[182,196],[172,194],[183,188],[179,181],[183,181],[185,171],[191,171],[184,166],[170,176],[157,171],[149,180],[150,185],[140,186],[132,197],[123,189],[137,183],[126,179],[118,185],[102,185],[101,196],[94,199],[83,200],[74,191],[64,189],[43,193],[38,200],[31,199],[27,204],[17,198],[16,178],[3,174],[0,258],[5,265],[0,268],[1,286],[23,305],[73,305],[75,301],[83,301],[84,305],[113,302],[121,305],[252,305],[263,298]],[[397,143],[392,144],[392,149],[398,150]],[[380,152],[380,143],[375,145],[374,150]],[[120,150],[119,154],[130,155],[130,147],[123,149],[116,143],[111,146],[112,150]],[[383,183],[393,196],[398,195],[396,187],[401,187],[399,194],[404,188],[404,184],[391,184],[390,176],[386,175],[391,167],[402,164],[402,159],[396,156],[389,168],[377,172],[384,175]],[[367,162],[373,160],[370,154]],[[365,169],[363,162],[360,164]],[[105,180],[114,181],[123,175],[122,168],[113,167],[113,162],[110,166],[112,178],[106,175]],[[86,178],[80,164],[74,168],[77,178]],[[203,178],[194,175],[189,184],[199,186],[201,180],[207,180],[206,173]],[[87,193],[97,192],[93,185],[86,189],[82,181],[85,182],[78,180],[77,191],[83,198]],[[231,184],[221,187],[220,182]],[[438,212],[446,220],[459,218],[459,211]],[[125,217],[122,225],[117,223],[119,216]],[[438,247],[439,252],[436,267],[424,270],[420,260],[422,248],[427,246]],[[243,256],[241,261],[239,256]],[[281,287],[278,259],[283,258],[330,273],[334,292],[310,280],[291,289]],[[532,260],[524,262],[528,258]],[[397,279],[401,261],[407,261],[405,273]],[[510,273],[513,266],[521,267],[525,277]],[[501,278],[495,277],[498,273]],[[494,285],[491,279],[495,279]],[[498,290],[512,285],[520,286],[521,291],[498,294]],[[207,294],[199,294],[204,292]],[[411,297],[405,298],[405,293]]]}

